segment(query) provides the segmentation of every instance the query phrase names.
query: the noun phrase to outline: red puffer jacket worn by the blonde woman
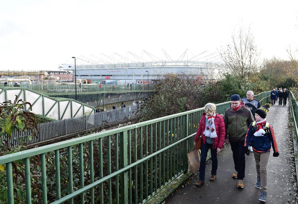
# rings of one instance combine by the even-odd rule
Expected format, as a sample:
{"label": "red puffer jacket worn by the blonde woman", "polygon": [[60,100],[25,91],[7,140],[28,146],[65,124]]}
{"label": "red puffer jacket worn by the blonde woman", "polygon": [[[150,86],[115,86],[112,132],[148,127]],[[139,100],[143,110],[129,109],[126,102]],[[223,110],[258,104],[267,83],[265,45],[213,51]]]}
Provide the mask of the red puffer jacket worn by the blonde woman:
{"label": "red puffer jacket worn by the blonde woman", "polygon": [[[196,142],[199,139],[199,136],[202,135],[202,142],[204,144],[206,142],[206,136],[203,135],[203,132],[205,131],[205,118],[206,118],[206,113],[203,113],[198,131],[196,132],[196,136],[195,136],[195,142]],[[213,138],[213,142],[212,142],[213,149],[217,149],[217,148],[221,149],[224,146],[224,137],[226,134],[226,130],[224,128],[224,119],[218,113],[216,113],[215,115],[214,125],[216,129],[217,137]]]}

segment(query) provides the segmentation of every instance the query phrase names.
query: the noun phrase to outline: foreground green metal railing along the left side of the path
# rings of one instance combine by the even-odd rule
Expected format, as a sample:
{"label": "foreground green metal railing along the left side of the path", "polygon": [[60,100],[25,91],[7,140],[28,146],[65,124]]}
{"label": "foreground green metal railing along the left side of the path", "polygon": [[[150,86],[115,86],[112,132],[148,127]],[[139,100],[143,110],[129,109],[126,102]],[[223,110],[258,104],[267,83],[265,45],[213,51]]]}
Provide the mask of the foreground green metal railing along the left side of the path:
{"label": "foreground green metal railing along the left side of the path", "polygon": [[[265,103],[269,92],[257,97]],[[229,107],[230,102],[217,104],[216,112],[224,114]],[[40,180],[42,203],[147,202],[187,173],[187,153],[194,148],[203,112],[200,108],[1,156],[8,203],[18,197],[16,185],[25,186],[26,203],[36,199],[38,195],[31,195],[33,178]],[[40,166],[35,169],[32,161],[37,158]],[[24,169],[25,184],[21,177],[16,180],[16,166]]]}

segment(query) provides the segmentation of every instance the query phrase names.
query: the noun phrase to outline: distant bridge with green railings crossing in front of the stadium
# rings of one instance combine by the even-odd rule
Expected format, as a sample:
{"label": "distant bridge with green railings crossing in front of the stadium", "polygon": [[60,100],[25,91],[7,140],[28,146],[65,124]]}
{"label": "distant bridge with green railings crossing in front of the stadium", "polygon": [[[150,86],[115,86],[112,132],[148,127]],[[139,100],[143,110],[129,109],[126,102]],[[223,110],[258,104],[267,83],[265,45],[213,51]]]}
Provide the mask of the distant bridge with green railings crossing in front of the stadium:
{"label": "distant bridge with green railings crossing in front of the stadium", "polygon": [[121,103],[129,100],[143,100],[154,91],[153,85],[77,85],[74,84],[10,84],[1,87],[23,87],[47,96],[78,100],[89,106]]}

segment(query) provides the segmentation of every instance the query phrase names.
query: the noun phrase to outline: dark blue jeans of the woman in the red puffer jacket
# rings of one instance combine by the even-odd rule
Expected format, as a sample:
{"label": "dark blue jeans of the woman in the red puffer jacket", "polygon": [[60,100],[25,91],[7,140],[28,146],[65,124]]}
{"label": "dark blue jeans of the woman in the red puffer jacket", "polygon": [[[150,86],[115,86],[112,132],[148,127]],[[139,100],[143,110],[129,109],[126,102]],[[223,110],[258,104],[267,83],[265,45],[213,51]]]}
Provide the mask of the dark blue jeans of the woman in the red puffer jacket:
{"label": "dark blue jeans of the woman in the red puffer jacket", "polygon": [[217,149],[212,149],[213,144],[204,144],[202,143],[201,146],[201,161],[200,161],[200,175],[199,180],[205,181],[205,168],[206,168],[206,158],[207,158],[207,152],[210,148],[211,151],[211,160],[212,160],[212,168],[211,168],[211,175],[216,175],[217,170]]}

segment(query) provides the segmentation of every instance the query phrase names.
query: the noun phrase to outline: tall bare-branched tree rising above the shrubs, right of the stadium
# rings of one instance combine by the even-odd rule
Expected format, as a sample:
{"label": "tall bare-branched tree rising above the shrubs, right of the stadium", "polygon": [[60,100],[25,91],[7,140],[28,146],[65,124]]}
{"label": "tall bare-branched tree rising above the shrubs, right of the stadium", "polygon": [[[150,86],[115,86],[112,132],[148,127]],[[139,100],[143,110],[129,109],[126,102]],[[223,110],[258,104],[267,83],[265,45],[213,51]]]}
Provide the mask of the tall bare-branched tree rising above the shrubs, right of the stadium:
{"label": "tall bare-branched tree rising above the shrubs, right of the stadium", "polygon": [[249,78],[260,70],[260,52],[250,27],[239,27],[230,44],[220,48],[220,55],[226,72],[235,77]]}

